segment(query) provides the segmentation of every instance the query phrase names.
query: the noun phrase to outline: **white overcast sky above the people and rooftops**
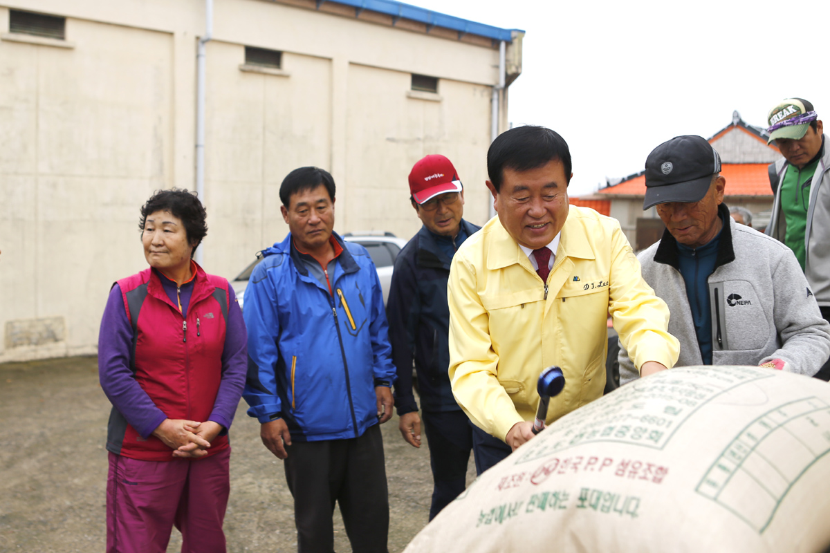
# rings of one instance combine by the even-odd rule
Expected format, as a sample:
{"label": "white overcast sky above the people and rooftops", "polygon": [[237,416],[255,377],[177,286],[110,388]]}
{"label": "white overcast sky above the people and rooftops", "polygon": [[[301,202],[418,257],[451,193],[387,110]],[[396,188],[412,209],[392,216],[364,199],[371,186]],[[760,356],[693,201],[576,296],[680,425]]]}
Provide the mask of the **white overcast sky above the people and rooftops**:
{"label": "white overcast sky above the people and rooftops", "polygon": [[769,108],[798,96],[830,124],[827,0],[408,3],[527,33],[510,121],[568,141],[572,196],[641,171],[669,138],[710,138],[735,109],[766,126]]}

